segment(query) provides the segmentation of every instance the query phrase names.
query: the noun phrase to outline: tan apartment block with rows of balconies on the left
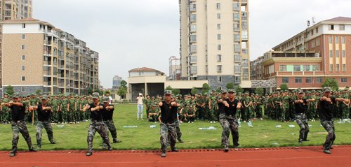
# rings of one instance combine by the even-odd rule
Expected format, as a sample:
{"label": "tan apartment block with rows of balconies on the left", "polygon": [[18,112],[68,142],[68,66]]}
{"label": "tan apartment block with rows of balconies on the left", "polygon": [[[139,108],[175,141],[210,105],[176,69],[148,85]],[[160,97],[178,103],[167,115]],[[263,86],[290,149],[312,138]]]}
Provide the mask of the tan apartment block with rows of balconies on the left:
{"label": "tan apartment block with rows of balconies on the left", "polygon": [[86,94],[99,89],[99,54],[84,41],[48,22],[27,18],[6,20],[1,44],[2,88],[31,94]]}

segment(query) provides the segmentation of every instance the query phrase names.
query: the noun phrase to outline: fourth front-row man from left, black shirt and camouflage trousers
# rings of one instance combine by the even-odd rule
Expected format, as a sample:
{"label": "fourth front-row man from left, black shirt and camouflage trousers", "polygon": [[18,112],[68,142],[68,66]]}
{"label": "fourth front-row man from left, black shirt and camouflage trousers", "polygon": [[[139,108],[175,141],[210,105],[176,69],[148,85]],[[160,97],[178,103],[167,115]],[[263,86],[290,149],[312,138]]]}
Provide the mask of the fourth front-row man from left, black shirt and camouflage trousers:
{"label": "fourth front-row man from left, black shirt and camouflage trousers", "polygon": [[[229,134],[232,131],[233,145],[236,147],[241,147],[239,145],[239,131],[238,131],[238,119],[235,116],[237,114],[237,108],[241,108],[241,103],[237,99],[235,99],[234,89],[228,89],[228,99],[223,100],[223,104],[225,106],[225,120],[223,122],[224,126],[224,136],[222,136],[222,140],[225,146],[225,152],[229,151],[228,145]],[[223,134],[223,133],[222,133]]]}

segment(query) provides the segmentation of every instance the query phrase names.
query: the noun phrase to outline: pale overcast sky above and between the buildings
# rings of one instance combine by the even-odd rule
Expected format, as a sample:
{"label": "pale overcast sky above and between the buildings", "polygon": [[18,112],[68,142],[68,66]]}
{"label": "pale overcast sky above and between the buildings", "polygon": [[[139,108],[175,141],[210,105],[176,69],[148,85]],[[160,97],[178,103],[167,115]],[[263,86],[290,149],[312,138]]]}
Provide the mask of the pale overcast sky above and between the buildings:
{"label": "pale overcast sky above and between the buildings", "polygon": [[[350,0],[249,0],[250,59],[306,29],[306,21],[351,17]],[[168,58],[179,57],[178,0],[33,0],[33,18],[53,24],[100,53],[100,81],[127,80],[132,68],[168,75]]]}

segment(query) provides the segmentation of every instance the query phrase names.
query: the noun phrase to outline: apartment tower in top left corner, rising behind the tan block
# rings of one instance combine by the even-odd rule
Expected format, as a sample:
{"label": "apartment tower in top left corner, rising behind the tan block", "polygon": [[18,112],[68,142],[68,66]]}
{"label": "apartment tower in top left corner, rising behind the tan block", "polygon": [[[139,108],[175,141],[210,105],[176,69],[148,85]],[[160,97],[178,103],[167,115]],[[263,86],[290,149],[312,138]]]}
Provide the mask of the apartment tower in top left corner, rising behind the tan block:
{"label": "apartment tower in top left corner, rising behind the tan block", "polygon": [[[32,18],[33,12],[32,0],[0,0],[0,22],[3,20],[16,20],[24,18]],[[0,24],[0,52],[2,43],[2,25]],[[0,66],[2,56],[0,53]],[[1,73],[1,68],[0,68]],[[1,87],[1,75],[0,75],[0,87]]]}

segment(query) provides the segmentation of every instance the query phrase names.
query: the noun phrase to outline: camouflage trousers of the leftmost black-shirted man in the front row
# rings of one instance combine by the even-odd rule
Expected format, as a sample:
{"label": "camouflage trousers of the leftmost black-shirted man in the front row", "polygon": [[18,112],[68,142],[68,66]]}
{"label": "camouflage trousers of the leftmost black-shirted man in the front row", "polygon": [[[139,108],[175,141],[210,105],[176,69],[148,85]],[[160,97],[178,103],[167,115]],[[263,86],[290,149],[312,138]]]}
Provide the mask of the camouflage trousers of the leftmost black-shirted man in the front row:
{"label": "camouflage trousers of the leftmost black-shirted man in the front row", "polygon": [[12,122],[11,128],[13,133],[12,152],[17,152],[17,144],[18,144],[18,139],[20,138],[20,133],[22,133],[23,138],[25,138],[25,141],[27,142],[29,150],[31,150],[33,148],[32,140],[29,136],[26,122],[25,121]]}

